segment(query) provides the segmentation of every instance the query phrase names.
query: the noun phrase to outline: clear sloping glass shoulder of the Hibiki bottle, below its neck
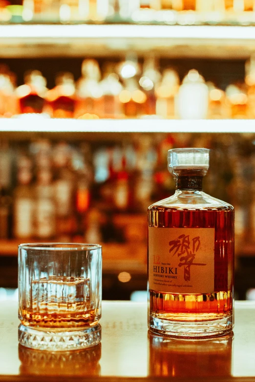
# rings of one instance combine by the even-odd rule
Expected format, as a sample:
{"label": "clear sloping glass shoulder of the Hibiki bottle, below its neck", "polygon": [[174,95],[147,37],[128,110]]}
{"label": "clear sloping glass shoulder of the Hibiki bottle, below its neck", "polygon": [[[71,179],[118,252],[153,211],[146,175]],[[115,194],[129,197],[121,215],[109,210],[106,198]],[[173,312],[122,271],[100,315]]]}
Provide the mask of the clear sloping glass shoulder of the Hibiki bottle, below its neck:
{"label": "clear sloping glass shoulder of the Hibiki bottle, below its neck", "polygon": [[177,190],[174,195],[169,198],[157,201],[149,206],[148,210],[157,210],[161,208],[182,210],[182,209],[195,209],[195,210],[206,210],[206,209],[217,209],[217,210],[234,210],[234,207],[219,199],[213,198],[212,196],[206,194],[203,191],[182,192]]}

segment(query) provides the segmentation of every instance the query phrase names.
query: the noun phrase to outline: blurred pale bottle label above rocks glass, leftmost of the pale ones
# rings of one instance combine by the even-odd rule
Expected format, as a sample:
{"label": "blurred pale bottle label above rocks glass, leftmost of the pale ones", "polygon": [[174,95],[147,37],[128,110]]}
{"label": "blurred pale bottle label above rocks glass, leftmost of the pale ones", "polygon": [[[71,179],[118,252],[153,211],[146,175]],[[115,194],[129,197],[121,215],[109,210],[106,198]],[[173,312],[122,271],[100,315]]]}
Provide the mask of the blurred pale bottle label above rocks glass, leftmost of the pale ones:
{"label": "blurred pale bottle label above rocks glass, leftmost of the pale ones", "polygon": [[18,238],[29,238],[33,234],[33,209],[31,199],[19,199],[15,205],[16,232]]}

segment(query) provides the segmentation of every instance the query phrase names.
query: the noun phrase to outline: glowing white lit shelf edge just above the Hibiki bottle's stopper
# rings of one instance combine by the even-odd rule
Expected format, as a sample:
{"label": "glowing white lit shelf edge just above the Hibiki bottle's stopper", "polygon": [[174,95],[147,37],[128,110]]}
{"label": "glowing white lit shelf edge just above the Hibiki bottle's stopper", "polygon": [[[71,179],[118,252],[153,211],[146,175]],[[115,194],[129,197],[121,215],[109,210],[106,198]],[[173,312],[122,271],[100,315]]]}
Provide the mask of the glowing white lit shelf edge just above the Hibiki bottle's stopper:
{"label": "glowing white lit shelf edge just above the Hibiki bottle's stopper", "polygon": [[[46,119],[41,115],[0,119],[10,133],[255,133],[255,120]],[[16,135],[20,139],[20,135]]]}

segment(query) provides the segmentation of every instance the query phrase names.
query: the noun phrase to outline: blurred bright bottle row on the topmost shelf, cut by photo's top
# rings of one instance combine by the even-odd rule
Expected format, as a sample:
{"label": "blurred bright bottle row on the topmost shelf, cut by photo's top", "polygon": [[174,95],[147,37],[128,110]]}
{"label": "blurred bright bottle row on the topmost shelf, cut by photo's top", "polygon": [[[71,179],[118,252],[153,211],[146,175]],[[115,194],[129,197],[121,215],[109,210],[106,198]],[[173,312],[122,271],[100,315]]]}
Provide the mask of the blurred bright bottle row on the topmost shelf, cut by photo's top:
{"label": "blurred bright bottle row on the topmost shelf, cut by photo's top", "polygon": [[252,23],[254,10],[254,0],[16,0],[2,2],[0,21]]}

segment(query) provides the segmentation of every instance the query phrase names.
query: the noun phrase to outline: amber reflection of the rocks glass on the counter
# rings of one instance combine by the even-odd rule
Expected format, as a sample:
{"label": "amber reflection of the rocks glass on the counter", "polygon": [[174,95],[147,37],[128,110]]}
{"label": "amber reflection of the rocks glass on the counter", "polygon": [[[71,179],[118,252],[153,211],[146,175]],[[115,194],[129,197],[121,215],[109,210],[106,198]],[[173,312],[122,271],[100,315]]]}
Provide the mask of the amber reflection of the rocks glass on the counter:
{"label": "amber reflection of the rocks glass on the counter", "polygon": [[20,375],[101,375],[101,343],[81,351],[48,352],[19,345]]}

